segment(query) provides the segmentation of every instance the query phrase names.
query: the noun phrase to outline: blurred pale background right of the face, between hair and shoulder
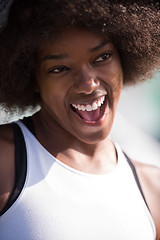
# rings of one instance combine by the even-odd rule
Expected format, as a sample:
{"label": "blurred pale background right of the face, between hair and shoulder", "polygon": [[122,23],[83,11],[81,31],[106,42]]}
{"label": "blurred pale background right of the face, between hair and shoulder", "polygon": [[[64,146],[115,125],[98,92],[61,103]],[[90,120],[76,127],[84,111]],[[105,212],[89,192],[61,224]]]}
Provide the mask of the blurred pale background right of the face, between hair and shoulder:
{"label": "blurred pale background right of the face, between hair and shoulder", "polygon": [[160,166],[160,73],[124,87],[111,138],[131,158]]}

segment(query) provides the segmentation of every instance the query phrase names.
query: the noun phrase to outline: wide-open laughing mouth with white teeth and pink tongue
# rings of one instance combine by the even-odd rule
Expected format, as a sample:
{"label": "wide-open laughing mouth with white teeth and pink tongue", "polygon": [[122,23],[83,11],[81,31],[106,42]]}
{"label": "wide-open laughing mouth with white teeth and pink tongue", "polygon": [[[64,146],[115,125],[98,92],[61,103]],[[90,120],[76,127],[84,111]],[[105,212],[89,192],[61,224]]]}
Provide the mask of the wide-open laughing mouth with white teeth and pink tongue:
{"label": "wide-open laughing mouth with white teeth and pink tongue", "polygon": [[71,104],[71,109],[86,122],[98,121],[105,112],[106,97],[102,96],[90,104]]}

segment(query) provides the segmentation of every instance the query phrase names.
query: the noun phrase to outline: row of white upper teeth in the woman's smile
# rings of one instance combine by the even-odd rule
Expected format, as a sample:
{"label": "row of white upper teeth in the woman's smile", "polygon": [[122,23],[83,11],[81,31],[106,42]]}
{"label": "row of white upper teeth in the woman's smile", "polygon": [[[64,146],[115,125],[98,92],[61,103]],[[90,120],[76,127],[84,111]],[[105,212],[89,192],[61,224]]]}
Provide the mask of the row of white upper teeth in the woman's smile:
{"label": "row of white upper teeth in the woman's smile", "polygon": [[72,106],[78,110],[81,111],[94,111],[96,110],[98,107],[100,107],[105,100],[105,96],[101,97],[100,99],[94,101],[92,104],[87,104],[87,105],[83,105],[83,104],[72,104]]}

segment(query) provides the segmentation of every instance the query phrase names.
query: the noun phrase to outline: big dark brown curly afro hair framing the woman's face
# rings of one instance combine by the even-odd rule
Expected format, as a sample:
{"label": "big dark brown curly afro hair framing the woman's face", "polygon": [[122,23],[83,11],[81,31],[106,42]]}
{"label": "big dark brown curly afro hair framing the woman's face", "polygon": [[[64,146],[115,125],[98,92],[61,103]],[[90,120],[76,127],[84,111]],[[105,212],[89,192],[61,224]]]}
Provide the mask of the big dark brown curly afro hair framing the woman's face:
{"label": "big dark brown curly afro hair framing the woman's face", "polygon": [[15,0],[0,34],[0,103],[11,109],[39,104],[35,65],[39,47],[67,26],[102,32],[117,48],[124,84],[152,76],[160,66],[157,1]]}

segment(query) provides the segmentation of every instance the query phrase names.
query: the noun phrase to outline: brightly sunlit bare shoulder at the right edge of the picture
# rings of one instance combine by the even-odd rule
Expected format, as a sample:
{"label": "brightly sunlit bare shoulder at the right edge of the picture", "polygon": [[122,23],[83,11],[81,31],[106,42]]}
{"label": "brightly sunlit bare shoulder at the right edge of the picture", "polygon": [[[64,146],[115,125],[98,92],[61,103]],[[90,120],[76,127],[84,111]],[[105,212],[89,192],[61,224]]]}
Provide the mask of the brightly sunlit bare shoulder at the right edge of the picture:
{"label": "brightly sunlit bare shoulder at the right edge of the picture", "polygon": [[160,239],[160,168],[133,161]]}

